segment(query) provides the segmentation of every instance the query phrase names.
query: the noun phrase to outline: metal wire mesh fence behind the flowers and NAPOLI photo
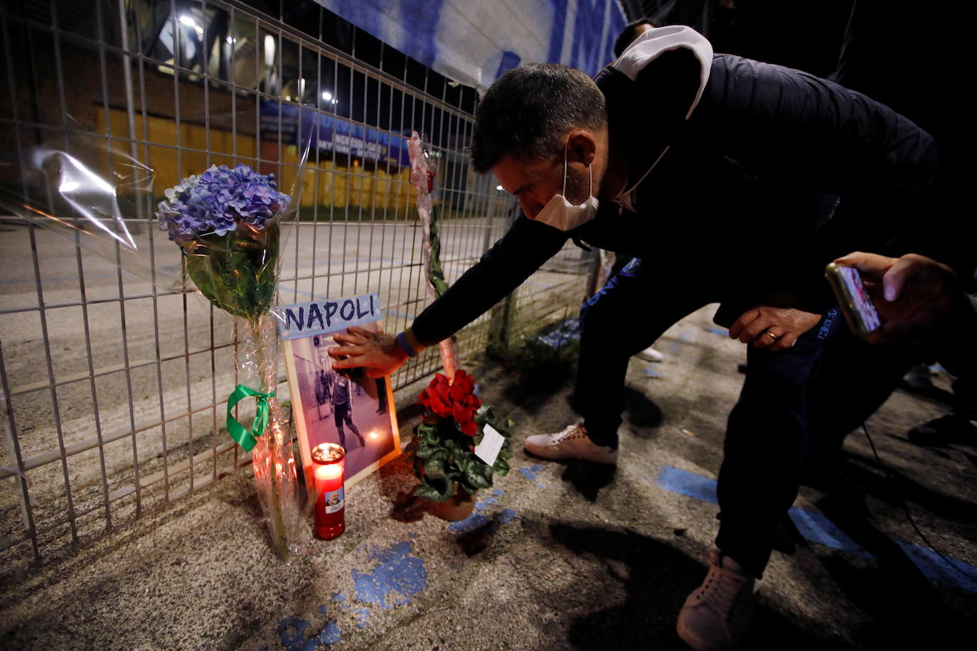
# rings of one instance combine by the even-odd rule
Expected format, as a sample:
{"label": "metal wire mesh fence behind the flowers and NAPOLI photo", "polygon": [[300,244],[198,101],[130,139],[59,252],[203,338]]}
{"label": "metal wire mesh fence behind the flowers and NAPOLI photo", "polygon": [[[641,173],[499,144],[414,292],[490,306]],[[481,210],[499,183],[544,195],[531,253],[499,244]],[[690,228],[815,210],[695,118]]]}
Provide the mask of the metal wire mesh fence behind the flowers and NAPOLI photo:
{"label": "metal wire mesh fence behind the flowers and NAPOLI photo", "polygon": [[[281,303],[379,292],[388,331],[427,305],[409,165],[395,150],[411,130],[439,162],[449,282],[511,223],[514,201],[465,160],[475,91],[314,2],[7,2],[0,29],[0,183],[36,195],[17,171],[26,152],[79,134],[154,170],[156,192],[212,163],[274,171],[302,188]],[[298,110],[331,128],[305,167],[289,117]],[[127,223],[155,272],[179,252],[152,209],[134,204]],[[11,216],[0,216],[0,255],[8,561],[69,551],[249,463],[223,427],[235,341],[222,312]],[[568,248],[510,297],[514,337],[573,313],[588,266]],[[489,327],[486,315],[459,333],[459,355],[483,350]],[[426,351],[395,387],[437,365]]]}

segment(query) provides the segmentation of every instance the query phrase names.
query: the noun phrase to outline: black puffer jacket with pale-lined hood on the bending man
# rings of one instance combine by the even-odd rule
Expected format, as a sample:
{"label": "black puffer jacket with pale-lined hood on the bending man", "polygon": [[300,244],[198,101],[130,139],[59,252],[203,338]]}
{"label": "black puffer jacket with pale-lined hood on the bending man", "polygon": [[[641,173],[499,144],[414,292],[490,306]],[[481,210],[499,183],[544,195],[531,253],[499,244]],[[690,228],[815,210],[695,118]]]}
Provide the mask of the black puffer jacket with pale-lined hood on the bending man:
{"label": "black puffer jacket with pale-lined hood on the bending man", "polygon": [[[698,45],[654,51],[646,38],[662,30]],[[631,195],[635,212],[602,200],[597,218],[569,233],[518,218],[418,315],[419,341],[434,344],[477,318],[568,237],[674,268],[665,282],[714,283],[737,316],[781,289],[824,309],[825,264],[854,250],[898,253],[886,247],[932,182],[933,140],[864,95],[797,70],[713,56],[697,39],[688,27],[649,30],[596,79],[629,184],[642,179]],[[702,61],[711,61],[707,71]]]}

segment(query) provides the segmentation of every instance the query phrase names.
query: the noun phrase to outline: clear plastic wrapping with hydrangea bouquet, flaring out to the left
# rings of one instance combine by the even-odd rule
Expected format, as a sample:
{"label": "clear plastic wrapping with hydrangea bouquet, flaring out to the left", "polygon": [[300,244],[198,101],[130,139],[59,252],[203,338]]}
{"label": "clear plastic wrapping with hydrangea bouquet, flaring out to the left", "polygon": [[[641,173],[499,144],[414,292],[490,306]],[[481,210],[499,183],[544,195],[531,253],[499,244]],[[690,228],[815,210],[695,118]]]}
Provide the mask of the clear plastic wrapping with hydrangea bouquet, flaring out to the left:
{"label": "clear plastic wrapping with hydrangea bouquet, flaring out to the left", "polygon": [[[269,310],[276,300],[281,226],[297,218],[307,145],[291,145],[288,187],[280,187],[274,174],[235,165],[237,157],[214,155],[228,164],[194,170],[169,188],[158,186],[160,178],[173,183],[178,177],[138,160],[142,146],[67,132],[57,142],[24,147],[19,189],[4,190],[0,208],[166,291],[195,289],[234,316],[240,384],[229,401],[229,433],[245,449],[253,447],[258,497],[276,552],[287,558],[297,549],[309,511],[298,490],[289,423],[275,395],[278,332]],[[147,159],[149,150],[143,149]],[[278,167],[257,157],[245,160]],[[153,216],[151,224],[172,243],[141,231],[139,224],[150,224]],[[244,396],[258,401],[261,418],[250,428],[232,418],[233,403]]]}

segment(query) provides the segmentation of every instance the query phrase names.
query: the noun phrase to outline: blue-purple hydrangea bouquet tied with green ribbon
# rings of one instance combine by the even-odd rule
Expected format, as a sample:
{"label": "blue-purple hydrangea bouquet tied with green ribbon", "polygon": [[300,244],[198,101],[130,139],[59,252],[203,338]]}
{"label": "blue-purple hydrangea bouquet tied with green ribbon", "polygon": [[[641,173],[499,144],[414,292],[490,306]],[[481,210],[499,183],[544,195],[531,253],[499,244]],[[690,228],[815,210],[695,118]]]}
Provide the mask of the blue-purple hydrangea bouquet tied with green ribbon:
{"label": "blue-purple hydrangea bouquet tied with green ribbon", "polygon": [[[252,461],[258,497],[276,552],[286,558],[303,518],[288,424],[275,397],[278,335],[275,298],[279,223],[290,197],[275,175],[246,165],[211,166],[165,192],[156,211],[160,227],[182,247],[186,271],[210,302],[235,317],[235,362],[240,384],[228,400],[228,432]],[[293,212],[293,211],[288,211]],[[254,396],[250,430],[234,420],[234,405]]]}

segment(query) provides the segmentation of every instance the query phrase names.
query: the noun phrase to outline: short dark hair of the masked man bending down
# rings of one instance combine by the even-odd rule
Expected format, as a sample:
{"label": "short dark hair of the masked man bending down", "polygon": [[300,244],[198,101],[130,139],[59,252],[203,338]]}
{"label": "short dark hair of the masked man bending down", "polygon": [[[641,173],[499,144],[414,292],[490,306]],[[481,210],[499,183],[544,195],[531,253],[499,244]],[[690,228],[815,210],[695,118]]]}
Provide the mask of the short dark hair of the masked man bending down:
{"label": "short dark hair of the masked man bending down", "polygon": [[472,166],[485,173],[506,156],[548,158],[574,128],[601,129],[604,94],[585,73],[559,63],[528,63],[495,80],[475,111]]}

